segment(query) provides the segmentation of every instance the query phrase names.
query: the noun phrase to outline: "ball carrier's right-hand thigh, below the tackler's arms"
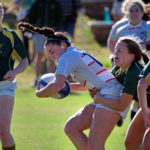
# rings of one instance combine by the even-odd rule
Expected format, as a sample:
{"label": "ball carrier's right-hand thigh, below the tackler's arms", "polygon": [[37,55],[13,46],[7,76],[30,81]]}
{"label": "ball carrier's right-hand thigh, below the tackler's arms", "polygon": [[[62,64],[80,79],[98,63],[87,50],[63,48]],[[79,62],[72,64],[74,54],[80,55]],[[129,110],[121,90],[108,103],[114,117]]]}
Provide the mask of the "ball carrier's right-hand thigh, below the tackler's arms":
{"label": "ball carrier's right-hand thigh, below the tackler's arms", "polygon": [[90,150],[105,150],[107,137],[120,119],[120,115],[106,109],[96,108],[93,116],[89,148]]}

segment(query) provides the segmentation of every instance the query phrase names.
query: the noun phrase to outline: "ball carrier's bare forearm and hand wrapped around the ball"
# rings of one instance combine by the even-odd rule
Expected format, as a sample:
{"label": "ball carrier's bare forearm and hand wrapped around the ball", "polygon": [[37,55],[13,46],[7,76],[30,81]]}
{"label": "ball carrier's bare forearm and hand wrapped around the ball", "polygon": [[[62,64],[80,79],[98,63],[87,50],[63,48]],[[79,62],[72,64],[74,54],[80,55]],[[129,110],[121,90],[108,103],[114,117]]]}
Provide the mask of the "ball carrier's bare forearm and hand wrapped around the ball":
{"label": "ball carrier's bare forearm and hand wrapped around the ball", "polygon": [[55,80],[52,82],[48,83],[47,86],[44,88],[40,89],[39,83],[36,89],[36,96],[37,97],[50,97],[51,95],[59,92],[66,81],[66,77],[61,74],[56,74]]}

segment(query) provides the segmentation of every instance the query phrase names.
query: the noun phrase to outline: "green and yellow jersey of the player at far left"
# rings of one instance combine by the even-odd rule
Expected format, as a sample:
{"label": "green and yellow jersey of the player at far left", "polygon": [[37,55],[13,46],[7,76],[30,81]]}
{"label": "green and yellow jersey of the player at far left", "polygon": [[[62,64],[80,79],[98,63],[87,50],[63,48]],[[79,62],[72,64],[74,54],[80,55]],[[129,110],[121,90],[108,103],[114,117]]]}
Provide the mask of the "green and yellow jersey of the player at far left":
{"label": "green and yellow jersey of the player at far left", "polygon": [[27,51],[15,31],[3,28],[0,32],[0,81],[9,70],[13,70],[14,62],[27,57]]}

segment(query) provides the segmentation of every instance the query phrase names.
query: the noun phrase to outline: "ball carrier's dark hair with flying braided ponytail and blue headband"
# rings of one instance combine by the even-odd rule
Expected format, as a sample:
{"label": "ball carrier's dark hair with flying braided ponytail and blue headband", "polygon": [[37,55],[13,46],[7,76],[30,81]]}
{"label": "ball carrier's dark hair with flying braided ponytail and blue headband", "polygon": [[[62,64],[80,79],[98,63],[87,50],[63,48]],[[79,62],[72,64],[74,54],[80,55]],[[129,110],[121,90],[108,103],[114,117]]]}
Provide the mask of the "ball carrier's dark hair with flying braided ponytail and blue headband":
{"label": "ball carrier's dark hair with flying braided ponytail and blue headband", "polygon": [[23,31],[30,31],[30,32],[38,32],[39,34],[44,35],[47,37],[47,41],[45,44],[48,43],[56,43],[61,44],[61,42],[65,42],[67,46],[71,45],[71,37],[66,32],[55,32],[53,28],[49,27],[36,27],[27,22],[20,22],[18,23],[18,28]]}

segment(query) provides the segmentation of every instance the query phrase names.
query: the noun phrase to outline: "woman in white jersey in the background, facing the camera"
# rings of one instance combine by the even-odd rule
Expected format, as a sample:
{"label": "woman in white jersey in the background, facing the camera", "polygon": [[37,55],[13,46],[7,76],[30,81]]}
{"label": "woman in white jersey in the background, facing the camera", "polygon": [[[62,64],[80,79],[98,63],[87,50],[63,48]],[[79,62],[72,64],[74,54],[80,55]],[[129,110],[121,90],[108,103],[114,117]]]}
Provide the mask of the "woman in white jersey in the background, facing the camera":
{"label": "woman in white jersey in the background, facing the camera", "polygon": [[150,44],[150,22],[147,12],[145,12],[145,4],[140,0],[132,0],[128,5],[127,20],[123,23],[115,34],[110,34],[108,45],[112,53],[114,52],[115,44],[120,37],[133,36],[141,45]]}

